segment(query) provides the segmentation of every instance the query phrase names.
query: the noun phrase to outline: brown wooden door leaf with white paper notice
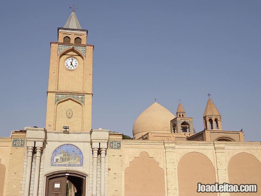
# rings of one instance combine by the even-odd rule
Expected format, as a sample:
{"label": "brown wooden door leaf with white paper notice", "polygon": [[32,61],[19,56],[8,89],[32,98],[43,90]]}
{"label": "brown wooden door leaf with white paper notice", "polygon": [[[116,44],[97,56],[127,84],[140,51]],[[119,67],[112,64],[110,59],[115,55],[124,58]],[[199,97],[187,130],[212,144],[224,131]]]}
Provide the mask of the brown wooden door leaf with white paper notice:
{"label": "brown wooden door leaf with white paper notice", "polygon": [[57,176],[49,179],[47,196],[66,196],[66,176]]}

